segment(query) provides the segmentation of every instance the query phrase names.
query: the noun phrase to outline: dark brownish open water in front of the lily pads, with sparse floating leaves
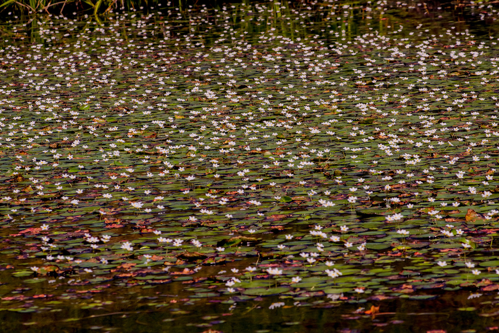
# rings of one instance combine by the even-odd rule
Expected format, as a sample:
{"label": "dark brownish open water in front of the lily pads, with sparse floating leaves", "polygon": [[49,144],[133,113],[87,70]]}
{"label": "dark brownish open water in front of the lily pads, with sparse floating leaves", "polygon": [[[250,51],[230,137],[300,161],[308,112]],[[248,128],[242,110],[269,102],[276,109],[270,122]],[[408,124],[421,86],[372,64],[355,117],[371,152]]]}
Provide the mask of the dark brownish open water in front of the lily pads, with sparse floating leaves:
{"label": "dark brownish open water in front of the lily pads, with sparse floating leaves", "polygon": [[[459,328],[486,332],[496,326],[494,298],[470,299],[470,292],[451,292],[430,301],[394,298],[382,301],[344,303],[328,298],[295,300],[270,297],[249,302],[191,300],[178,305],[160,290],[140,291],[135,301],[121,306],[81,309],[68,304],[61,311],[44,314],[1,312],[3,332],[174,332],[205,330],[238,332],[427,332]],[[113,295],[115,304],[120,294]],[[132,296],[133,297],[133,296]],[[237,299],[237,298],[236,298]],[[95,301],[94,301],[95,302]],[[271,304],[283,303],[269,310]],[[300,306],[294,304],[299,303]],[[126,304],[126,305],[125,305]],[[379,307],[374,315],[366,314]],[[459,310],[458,310],[459,309]],[[56,324],[55,324],[56,323]],[[468,331],[467,331],[468,332]],[[469,331],[472,332],[472,331]]]}

